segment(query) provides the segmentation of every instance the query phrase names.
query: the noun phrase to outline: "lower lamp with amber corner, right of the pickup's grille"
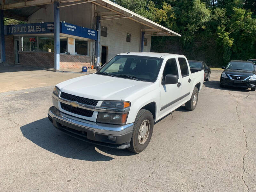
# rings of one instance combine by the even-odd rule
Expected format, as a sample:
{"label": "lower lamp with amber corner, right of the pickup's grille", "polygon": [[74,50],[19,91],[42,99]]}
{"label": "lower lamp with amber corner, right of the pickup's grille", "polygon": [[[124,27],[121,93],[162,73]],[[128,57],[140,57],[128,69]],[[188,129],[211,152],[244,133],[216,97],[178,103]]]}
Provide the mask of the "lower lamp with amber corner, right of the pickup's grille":
{"label": "lower lamp with amber corner, right of the pickup's grille", "polygon": [[99,112],[97,117],[97,122],[108,123],[108,124],[126,124],[128,113],[103,113]]}

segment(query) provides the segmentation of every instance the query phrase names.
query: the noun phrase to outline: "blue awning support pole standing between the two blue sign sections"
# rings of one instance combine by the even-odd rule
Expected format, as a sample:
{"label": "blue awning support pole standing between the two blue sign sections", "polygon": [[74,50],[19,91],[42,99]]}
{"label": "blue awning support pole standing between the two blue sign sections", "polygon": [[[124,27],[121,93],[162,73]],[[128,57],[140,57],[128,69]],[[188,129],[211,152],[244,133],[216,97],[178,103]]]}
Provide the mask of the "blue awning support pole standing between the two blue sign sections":
{"label": "blue awning support pole standing between the two blue sign sections", "polygon": [[59,2],[54,2],[54,69],[60,69],[60,9]]}

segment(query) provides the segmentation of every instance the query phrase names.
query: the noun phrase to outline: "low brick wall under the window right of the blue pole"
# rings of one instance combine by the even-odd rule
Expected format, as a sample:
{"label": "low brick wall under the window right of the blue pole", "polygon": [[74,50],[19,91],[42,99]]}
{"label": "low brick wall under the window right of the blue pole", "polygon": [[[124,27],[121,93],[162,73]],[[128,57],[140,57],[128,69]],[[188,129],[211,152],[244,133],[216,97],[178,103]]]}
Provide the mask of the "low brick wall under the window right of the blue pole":
{"label": "low brick wall under the window right of the blue pole", "polygon": [[82,68],[91,66],[91,57],[84,55],[60,54],[60,68]]}

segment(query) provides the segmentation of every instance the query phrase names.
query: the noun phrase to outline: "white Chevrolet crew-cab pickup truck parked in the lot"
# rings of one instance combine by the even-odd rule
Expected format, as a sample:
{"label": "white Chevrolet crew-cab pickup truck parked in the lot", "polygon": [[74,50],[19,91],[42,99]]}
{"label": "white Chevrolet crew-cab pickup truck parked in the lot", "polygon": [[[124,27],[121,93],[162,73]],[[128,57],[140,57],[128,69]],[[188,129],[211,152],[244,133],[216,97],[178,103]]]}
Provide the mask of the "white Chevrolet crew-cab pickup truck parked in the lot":
{"label": "white Chevrolet crew-cab pickup truck parked in the lot", "polygon": [[196,108],[204,71],[183,55],[122,53],[94,74],[57,84],[49,120],[87,142],[140,153],[154,124],[185,103]]}

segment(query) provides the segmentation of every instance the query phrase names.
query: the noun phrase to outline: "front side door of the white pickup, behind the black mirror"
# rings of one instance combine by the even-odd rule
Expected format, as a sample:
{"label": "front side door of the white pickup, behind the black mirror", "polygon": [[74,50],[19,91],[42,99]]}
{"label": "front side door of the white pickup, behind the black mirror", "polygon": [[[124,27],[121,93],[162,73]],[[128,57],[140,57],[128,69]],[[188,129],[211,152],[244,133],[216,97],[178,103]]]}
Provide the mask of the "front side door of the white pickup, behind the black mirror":
{"label": "front side door of the white pickup, behind the black mirror", "polygon": [[175,109],[175,106],[180,104],[180,96],[182,94],[182,87],[180,85],[180,73],[179,68],[177,66],[176,59],[169,59],[165,63],[164,72],[162,75],[162,79],[165,79],[166,75],[177,75],[179,78],[179,84],[169,84],[169,85],[162,85],[160,83],[160,111],[159,117],[163,117],[164,115],[171,112],[171,110]]}

